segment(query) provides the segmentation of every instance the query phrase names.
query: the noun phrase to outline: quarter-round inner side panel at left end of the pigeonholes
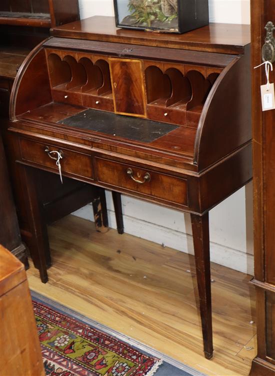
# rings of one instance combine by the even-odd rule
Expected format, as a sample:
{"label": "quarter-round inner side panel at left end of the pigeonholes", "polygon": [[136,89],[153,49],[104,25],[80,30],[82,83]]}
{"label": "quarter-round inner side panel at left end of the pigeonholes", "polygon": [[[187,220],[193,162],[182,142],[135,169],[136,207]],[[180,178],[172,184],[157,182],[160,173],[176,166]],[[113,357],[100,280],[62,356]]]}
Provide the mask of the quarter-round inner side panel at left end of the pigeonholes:
{"label": "quarter-round inner side panel at left end of the pigeonholes", "polygon": [[14,80],[10,95],[9,118],[51,102],[43,42],[25,58]]}

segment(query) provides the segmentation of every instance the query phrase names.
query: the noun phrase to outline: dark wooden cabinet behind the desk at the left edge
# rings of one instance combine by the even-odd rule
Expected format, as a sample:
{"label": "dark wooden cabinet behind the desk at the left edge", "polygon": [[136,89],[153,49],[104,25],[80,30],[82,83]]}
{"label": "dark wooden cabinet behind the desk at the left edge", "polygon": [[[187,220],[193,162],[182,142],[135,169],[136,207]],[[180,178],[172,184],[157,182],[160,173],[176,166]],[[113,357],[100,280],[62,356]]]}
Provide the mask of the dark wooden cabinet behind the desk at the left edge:
{"label": "dark wooden cabinet behind the desk at the left edge", "polygon": [[[29,237],[25,236],[29,226],[27,225],[27,211],[21,199],[21,188],[17,188],[18,169],[10,160],[11,147],[6,131],[10,92],[16,73],[30,50],[48,37],[50,27],[78,20],[78,13],[77,0],[62,2],[4,0],[0,2],[0,133],[3,140],[3,146],[2,144],[0,146],[1,167],[5,163],[5,155],[7,160],[7,166],[1,168],[1,181],[3,182],[1,215],[3,215],[3,210],[6,212],[8,210],[10,213],[9,221],[5,222],[5,229],[4,227],[1,229],[0,243],[13,251],[13,254],[16,254],[25,266],[28,265],[27,256],[25,246],[21,242],[17,215],[23,240],[30,247],[31,244]],[[11,222],[13,222],[12,226]]]}

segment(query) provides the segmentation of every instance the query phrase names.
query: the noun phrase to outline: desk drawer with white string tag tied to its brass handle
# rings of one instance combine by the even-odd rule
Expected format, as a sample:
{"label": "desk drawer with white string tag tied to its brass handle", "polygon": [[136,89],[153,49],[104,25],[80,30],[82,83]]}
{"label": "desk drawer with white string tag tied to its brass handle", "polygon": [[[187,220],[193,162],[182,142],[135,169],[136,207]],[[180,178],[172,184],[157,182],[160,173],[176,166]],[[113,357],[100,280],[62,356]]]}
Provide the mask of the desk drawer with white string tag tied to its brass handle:
{"label": "desk drawer with white string tag tied to its brass handle", "polygon": [[[56,160],[51,159],[47,152],[46,146],[49,151],[61,151],[63,158],[60,160],[61,171],[72,175],[83,176],[93,179],[92,161],[91,156],[79,152],[74,152],[68,149],[60,148],[56,145],[48,144],[47,142],[41,144],[39,142],[20,139],[21,157],[25,161],[34,162],[41,166],[46,166],[58,170]],[[56,153],[52,153],[56,157]]]}

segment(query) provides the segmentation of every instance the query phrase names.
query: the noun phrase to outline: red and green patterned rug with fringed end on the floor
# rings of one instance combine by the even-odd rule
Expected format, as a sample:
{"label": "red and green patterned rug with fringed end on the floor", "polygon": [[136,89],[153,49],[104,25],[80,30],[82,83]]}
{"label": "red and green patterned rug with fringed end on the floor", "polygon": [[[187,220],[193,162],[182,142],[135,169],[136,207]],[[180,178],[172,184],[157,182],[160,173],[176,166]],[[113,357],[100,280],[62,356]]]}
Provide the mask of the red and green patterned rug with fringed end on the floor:
{"label": "red and green patterned rug with fringed end on the floor", "polygon": [[46,376],[205,376],[45,296],[31,295]]}

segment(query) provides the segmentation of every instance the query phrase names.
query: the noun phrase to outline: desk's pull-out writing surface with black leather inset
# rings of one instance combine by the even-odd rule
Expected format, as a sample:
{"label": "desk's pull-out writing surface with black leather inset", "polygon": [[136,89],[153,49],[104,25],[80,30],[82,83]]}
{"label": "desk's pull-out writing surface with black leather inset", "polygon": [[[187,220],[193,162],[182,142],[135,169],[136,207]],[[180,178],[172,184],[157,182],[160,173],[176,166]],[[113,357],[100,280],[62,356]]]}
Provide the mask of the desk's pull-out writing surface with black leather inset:
{"label": "desk's pull-out writing surface with black leather inset", "polygon": [[[88,122],[89,124],[86,123],[86,126],[83,126],[81,122],[77,123],[77,117],[79,114],[90,114],[91,122]],[[18,118],[41,123],[43,124],[43,128],[45,128],[45,124],[57,125],[64,130],[69,130],[70,132],[75,131],[79,133],[80,131],[83,136],[85,134],[98,137],[98,139],[102,137],[106,142],[108,142],[108,140],[123,140],[128,144],[144,146],[145,148],[149,146],[152,148],[152,150],[164,151],[183,158],[192,158],[194,153],[196,129],[192,128],[192,123],[190,123],[190,127],[181,127],[173,124],[133,118],[105,111],[91,110],[80,106],[55,102],[28,111],[20,115]],[[112,119],[112,121],[116,123],[115,136],[114,132],[108,133],[102,130],[102,127],[98,124],[98,119],[100,121],[100,119],[102,120],[103,118],[105,119],[106,127],[108,127],[108,119]],[[94,125],[93,128],[91,124]],[[124,127],[123,130],[117,129],[117,125],[121,124]],[[139,130],[134,128],[131,129],[132,132],[129,132],[129,130],[126,131],[126,127],[129,124],[131,124],[133,127],[136,127],[134,124],[138,124],[138,127],[142,126],[142,124],[152,125],[155,127],[153,132],[160,132],[160,134],[148,132],[148,129],[145,133],[143,130],[143,134],[139,134]],[[111,130],[111,128],[109,128],[109,130]],[[123,133],[124,130],[126,134]]]}

